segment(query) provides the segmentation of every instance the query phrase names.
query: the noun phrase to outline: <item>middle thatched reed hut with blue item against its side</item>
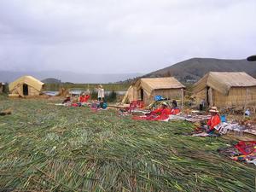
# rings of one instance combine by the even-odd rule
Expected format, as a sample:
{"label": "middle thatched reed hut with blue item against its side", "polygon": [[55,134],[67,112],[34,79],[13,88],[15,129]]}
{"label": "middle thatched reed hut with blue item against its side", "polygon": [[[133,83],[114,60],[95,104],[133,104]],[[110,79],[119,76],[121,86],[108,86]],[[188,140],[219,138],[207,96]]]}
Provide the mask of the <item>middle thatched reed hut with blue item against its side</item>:
{"label": "middle thatched reed hut with blue item against its side", "polygon": [[148,105],[154,102],[154,96],[183,99],[184,88],[185,86],[173,77],[138,79],[127,90],[123,102],[141,100]]}

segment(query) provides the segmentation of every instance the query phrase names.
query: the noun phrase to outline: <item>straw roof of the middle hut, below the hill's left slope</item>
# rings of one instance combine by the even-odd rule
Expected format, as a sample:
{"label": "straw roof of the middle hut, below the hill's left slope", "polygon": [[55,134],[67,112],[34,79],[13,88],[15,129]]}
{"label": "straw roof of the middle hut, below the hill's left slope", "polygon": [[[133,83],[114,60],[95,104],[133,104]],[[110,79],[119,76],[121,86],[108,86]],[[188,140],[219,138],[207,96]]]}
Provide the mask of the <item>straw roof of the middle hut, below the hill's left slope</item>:
{"label": "straw roof of the middle hut, below the hill's left slope", "polygon": [[152,90],[168,90],[185,88],[177,79],[173,77],[168,78],[143,78],[139,79],[136,84],[137,87],[143,87],[148,94]]}

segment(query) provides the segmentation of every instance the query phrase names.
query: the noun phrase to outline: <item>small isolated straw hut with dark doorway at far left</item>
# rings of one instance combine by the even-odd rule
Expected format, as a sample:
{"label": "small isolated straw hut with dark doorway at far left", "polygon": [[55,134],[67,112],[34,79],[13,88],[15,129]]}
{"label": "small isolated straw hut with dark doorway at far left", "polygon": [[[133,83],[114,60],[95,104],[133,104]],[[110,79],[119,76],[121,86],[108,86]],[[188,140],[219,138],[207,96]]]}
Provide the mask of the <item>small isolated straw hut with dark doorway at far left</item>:
{"label": "small isolated straw hut with dark doorway at far left", "polygon": [[10,96],[39,96],[44,83],[32,76],[23,76],[9,84]]}

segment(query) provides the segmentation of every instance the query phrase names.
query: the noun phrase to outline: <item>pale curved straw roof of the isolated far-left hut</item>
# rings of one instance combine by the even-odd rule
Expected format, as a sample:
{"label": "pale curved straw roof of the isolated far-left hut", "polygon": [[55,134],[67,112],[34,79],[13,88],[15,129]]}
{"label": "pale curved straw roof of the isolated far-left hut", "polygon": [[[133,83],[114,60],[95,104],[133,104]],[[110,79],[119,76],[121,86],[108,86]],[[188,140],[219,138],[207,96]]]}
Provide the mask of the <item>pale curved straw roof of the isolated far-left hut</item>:
{"label": "pale curved straw roof of the isolated far-left hut", "polygon": [[34,89],[40,91],[42,90],[42,86],[44,83],[39,81],[38,79],[33,78],[32,76],[23,76],[20,77],[19,79],[16,79],[14,82],[9,84],[9,90],[15,90],[16,86],[19,86],[20,84],[27,84],[32,86]]}

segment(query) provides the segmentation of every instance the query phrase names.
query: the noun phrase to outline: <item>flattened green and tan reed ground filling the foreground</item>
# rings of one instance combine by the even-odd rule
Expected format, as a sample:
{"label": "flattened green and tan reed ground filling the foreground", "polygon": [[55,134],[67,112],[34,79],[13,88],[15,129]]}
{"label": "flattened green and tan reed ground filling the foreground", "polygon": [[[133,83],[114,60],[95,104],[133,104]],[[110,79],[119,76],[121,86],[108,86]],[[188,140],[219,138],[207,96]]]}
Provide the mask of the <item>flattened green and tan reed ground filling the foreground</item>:
{"label": "flattened green and tan reed ground filling the foreground", "polygon": [[254,166],[216,151],[233,141],[184,136],[185,122],[119,118],[47,100],[0,101],[0,189],[253,191]]}

